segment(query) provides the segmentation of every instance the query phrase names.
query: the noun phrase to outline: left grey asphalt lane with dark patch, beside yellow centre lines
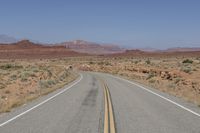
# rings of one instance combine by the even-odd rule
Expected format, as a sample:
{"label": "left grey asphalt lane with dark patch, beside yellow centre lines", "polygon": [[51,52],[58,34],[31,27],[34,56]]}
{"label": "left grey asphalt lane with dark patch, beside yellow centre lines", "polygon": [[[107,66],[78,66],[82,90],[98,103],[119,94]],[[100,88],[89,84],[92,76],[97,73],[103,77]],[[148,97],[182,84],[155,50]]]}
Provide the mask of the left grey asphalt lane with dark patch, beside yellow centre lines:
{"label": "left grey asphalt lane with dark patch, beside yellow centre lines", "polygon": [[93,75],[83,74],[64,93],[1,126],[0,133],[98,133],[103,101],[101,83]]}

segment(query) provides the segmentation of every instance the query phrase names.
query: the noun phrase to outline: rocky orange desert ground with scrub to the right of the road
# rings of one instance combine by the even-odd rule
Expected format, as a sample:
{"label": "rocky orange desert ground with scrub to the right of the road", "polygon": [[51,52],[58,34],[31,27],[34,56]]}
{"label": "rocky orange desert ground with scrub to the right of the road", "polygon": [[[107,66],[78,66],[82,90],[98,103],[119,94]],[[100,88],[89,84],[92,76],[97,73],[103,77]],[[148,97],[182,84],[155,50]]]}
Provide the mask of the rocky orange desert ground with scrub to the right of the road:
{"label": "rocky orange desert ground with scrub to the right of the road", "polygon": [[116,74],[200,106],[200,58],[114,57],[88,59],[79,69]]}

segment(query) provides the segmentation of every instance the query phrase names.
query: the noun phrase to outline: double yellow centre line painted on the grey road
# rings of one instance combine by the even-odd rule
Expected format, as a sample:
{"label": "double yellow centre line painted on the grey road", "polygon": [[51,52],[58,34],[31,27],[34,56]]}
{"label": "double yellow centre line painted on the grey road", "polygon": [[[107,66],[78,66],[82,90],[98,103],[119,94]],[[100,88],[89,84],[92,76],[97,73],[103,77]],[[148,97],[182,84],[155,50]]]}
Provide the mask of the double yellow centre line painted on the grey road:
{"label": "double yellow centre line painted on the grey road", "polygon": [[104,133],[116,133],[113,107],[108,86],[102,81],[104,88]]}

